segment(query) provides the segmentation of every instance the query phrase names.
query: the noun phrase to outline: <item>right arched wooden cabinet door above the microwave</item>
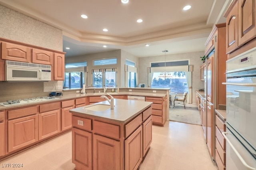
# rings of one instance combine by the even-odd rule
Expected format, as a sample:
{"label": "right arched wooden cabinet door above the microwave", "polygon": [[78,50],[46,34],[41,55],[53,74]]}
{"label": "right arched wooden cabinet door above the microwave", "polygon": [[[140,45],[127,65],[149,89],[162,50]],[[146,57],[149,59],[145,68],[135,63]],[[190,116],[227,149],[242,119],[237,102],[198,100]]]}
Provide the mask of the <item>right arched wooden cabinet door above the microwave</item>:
{"label": "right arched wooden cabinet door above the microwave", "polygon": [[53,52],[33,48],[32,63],[53,65]]}

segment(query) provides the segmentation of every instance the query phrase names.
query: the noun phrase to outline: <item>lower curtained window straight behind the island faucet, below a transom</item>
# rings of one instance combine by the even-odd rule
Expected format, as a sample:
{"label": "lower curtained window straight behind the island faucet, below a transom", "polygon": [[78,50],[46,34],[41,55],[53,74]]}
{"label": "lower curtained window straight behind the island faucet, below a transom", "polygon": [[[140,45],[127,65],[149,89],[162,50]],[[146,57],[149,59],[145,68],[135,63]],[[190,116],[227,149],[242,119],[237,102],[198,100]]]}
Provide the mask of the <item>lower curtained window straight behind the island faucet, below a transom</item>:
{"label": "lower curtained window straight behind the island faucet, below a transom", "polygon": [[116,87],[116,68],[113,69],[93,69],[92,70],[93,86]]}

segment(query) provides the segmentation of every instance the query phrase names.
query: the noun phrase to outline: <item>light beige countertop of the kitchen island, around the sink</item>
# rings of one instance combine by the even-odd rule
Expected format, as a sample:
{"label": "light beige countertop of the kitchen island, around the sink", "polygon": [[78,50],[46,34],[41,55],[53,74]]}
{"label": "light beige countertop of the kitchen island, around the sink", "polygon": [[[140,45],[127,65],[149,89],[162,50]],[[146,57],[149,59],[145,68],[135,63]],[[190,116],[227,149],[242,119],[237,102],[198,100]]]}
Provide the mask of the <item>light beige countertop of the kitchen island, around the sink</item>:
{"label": "light beige countertop of the kitchen island, around the sink", "polygon": [[102,101],[92,105],[71,109],[70,112],[118,123],[126,123],[152,105],[152,102],[114,99],[114,109],[107,109],[105,111],[91,111],[84,109],[98,104],[109,105],[108,101]]}

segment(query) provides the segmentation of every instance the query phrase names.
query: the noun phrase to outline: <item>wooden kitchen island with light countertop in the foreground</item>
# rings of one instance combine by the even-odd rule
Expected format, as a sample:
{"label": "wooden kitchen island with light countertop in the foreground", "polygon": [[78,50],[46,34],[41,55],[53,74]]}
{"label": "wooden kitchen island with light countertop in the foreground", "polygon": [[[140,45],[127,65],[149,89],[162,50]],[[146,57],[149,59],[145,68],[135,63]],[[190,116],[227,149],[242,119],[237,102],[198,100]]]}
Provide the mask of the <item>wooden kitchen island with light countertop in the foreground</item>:
{"label": "wooden kitchen island with light countertop in the foreground", "polygon": [[[114,99],[114,109],[71,109],[76,169],[137,169],[152,142],[152,102]],[[87,108],[87,109],[86,109]]]}

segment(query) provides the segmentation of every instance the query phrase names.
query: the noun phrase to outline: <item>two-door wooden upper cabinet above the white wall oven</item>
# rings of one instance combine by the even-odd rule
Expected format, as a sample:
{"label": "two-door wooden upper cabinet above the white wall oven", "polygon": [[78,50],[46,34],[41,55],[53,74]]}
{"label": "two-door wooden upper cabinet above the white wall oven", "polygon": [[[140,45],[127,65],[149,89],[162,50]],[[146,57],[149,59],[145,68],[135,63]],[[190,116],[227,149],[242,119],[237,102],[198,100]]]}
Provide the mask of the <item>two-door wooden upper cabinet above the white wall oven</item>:
{"label": "two-door wooden upper cabinet above the white wall oven", "polygon": [[226,17],[226,53],[232,53],[256,37],[256,1],[233,0]]}

